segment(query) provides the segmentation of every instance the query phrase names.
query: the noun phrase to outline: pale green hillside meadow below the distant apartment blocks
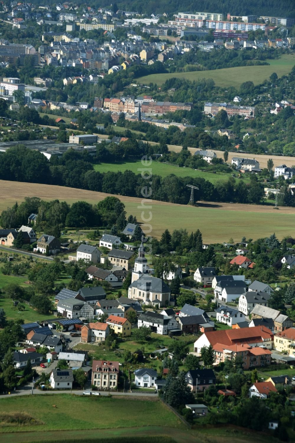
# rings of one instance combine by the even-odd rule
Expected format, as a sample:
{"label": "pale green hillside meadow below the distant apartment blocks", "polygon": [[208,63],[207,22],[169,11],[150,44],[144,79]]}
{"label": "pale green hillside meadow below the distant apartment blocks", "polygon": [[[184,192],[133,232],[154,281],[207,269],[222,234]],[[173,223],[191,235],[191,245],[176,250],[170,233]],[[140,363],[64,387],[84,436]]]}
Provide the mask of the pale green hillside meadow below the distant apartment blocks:
{"label": "pale green hillside meadow below the distant apartment blocks", "polygon": [[151,74],[137,79],[137,83],[157,83],[158,86],[165,83],[169,78],[187,78],[188,80],[199,80],[200,78],[212,78],[216,86],[234,86],[239,88],[241,83],[252,81],[259,85],[266,78],[276,72],[278,77],[288,74],[295,65],[295,54],[284,54],[276,60],[267,60],[269,65],[265,66],[238,66],[206,71],[179,72],[172,74]]}

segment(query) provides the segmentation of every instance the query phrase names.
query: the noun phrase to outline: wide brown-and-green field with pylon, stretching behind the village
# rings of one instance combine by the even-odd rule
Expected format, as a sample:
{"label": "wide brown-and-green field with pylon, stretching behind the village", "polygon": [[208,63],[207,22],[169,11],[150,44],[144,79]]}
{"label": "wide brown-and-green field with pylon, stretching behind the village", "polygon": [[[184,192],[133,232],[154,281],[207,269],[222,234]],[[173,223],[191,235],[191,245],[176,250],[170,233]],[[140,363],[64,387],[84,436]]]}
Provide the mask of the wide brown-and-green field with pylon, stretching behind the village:
{"label": "wide brown-and-green field with pylon, stretching behind the village", "polygon": [[[22,202],[26,196],[37,196],[47,201],[58,198],[70,204],[78,200],[96,204],[110,195],[61,186],[4,180],[0,180],[0,189],[2,193],[0,212],[16,201]],[[212,202],[200,202],[199,206],[195,207],[159,201],[146,202],[142,207],[141,198],[117,197],[125,204],[127,216],[136,215],[139,222],[142,220],[142,212],[147,218],[151,211],[150,233],[154,237],[161,237],[166,228],[170,231],[185,228],[189,232],[200,229],[203,241],[206,243],[228,241],[230,237],[234,241],[241,241],[243,236],[257,239],[267,237],[274,232],[280,239],[286,235],[295,236],[295,208],[291,207],[280,207],[276,210],[273,206]],[[146,231],[149,229],[144,225],[142,227]]]}

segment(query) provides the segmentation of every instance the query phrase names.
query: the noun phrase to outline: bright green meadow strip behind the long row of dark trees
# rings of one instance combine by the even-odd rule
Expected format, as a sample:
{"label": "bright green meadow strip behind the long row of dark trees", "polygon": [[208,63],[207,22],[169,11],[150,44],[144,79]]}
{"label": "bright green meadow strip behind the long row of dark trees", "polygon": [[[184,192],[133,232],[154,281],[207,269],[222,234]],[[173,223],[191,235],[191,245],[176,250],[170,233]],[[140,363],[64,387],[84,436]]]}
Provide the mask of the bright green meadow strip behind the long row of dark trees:
{"label": "bright green meadow strip behind the long row of dark trees", "polygon": [[[141,174],[142,168],[141,161],[129,161],[129,162],[119,162],[119,163],[100,163],[94,165],[94,169],[99,172],[124,172],[124,171],[132,171],[134,174]],[[152,163],[152,172],[153,175],[160,175],[161,177],[166,177],[167,175],[174,174],[177,177],[193,177],[193,178],[201,178],[205,180],[209,180],[211,183],[215,184],[219,180],[227,180],[231,177],[230,173],[226,172],[203,172],[200,170],[195,170],[189,167],[178,167],[167,163],[154,161]],[[245,183],[248,183],[249,179],[245,180]]]}

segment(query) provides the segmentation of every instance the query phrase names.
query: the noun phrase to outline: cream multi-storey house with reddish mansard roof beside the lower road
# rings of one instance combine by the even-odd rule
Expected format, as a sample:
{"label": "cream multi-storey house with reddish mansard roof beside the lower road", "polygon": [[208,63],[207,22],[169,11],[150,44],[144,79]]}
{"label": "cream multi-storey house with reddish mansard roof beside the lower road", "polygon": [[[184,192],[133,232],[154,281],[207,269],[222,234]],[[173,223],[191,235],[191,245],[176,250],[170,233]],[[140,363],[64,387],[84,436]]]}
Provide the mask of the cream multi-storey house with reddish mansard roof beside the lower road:
{"label": "cream multi-storey house with reddish mansard roof beside the lower road", "polygon": [[91,384],[97,389],[116,389],[119,380],[119,361],[92,361]]}

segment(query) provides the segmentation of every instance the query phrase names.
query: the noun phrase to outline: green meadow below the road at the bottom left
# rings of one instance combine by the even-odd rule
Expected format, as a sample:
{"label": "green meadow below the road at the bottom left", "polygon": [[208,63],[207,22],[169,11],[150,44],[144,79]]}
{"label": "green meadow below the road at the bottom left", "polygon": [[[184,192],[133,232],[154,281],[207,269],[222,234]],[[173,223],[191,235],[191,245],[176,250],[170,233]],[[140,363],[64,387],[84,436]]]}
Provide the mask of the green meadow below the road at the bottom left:
{"label": "green meadow below the road at the bottom left", "polygon": [[[53,408],[52,404],[57,407]],[[1,411],[26,411],[36,424],[1,423],[0,432],[50,431],[72,429],[115,429],[117,427],[181,427],[180,420],[159,400],[147,401],[110,397],[60,395],[18,396],[0,399]]]}

